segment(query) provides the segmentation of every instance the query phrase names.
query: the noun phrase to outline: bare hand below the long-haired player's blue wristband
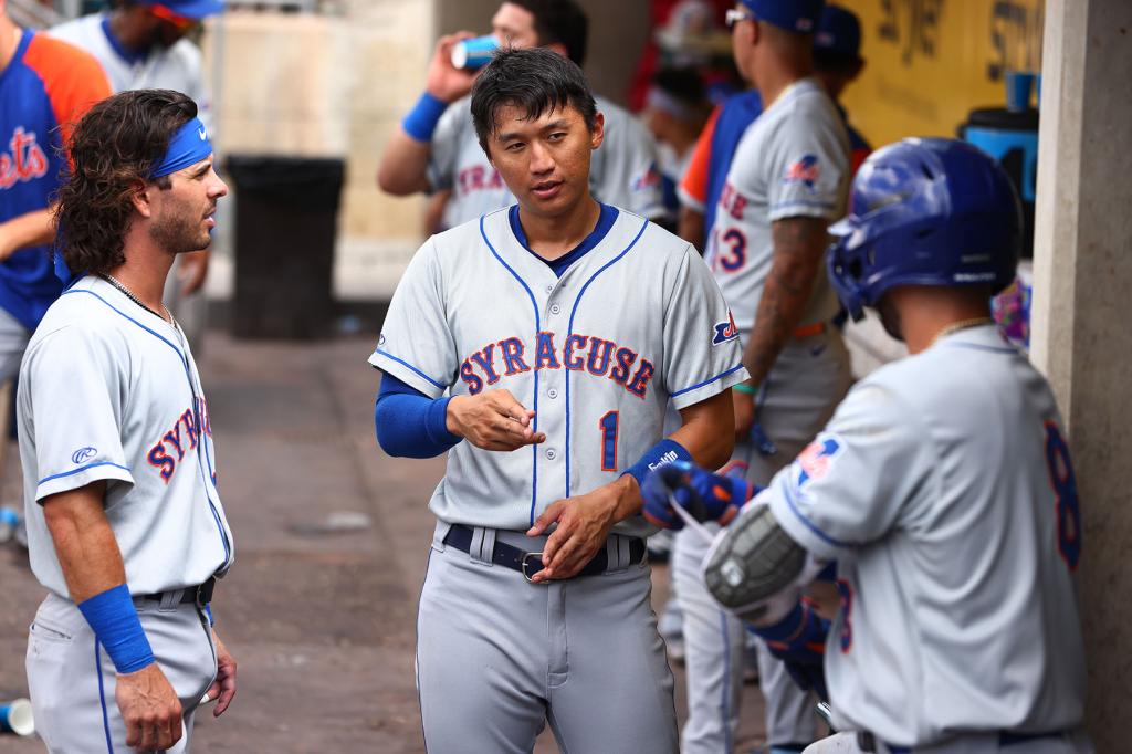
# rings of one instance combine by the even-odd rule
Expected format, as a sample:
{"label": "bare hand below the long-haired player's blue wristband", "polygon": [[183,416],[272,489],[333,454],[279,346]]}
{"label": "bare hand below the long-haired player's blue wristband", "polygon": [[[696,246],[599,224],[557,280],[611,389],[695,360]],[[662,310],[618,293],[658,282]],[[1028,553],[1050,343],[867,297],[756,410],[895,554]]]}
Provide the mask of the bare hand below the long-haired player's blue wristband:
{"label": "bare hand below the long-haired player's blue wristband", "polygon": [[156,662],[135,672],[118,674],[114,696],[130,748],[163,752],[181,739],[181,702]]}

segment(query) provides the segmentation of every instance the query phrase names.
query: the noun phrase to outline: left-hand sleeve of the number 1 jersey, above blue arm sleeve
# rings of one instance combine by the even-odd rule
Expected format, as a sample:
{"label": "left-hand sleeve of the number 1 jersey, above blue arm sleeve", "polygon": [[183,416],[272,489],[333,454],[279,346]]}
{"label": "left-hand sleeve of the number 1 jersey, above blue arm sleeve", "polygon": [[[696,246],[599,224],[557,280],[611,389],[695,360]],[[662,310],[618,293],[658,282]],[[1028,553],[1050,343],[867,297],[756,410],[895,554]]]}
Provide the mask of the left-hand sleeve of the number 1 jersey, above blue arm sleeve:
{"label": "left-hand sleeve of the number 1 jersey, above blue arm sleeve", "polygon": [[397,284],[369,362],[434,399],[455,382],[460,365],[434,239],[413,255]]}

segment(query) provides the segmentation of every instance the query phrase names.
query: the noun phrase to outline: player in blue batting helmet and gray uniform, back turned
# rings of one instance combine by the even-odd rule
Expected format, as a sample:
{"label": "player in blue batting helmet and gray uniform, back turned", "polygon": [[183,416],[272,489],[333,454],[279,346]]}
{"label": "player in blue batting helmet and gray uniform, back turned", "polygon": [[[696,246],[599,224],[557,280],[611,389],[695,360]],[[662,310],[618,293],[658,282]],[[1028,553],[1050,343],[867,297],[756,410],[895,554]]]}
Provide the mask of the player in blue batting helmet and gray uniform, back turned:
{"label": "player in blue batting helmet and gray uniform, back turned", "polygon": [[[818,687],[824,646],[844,732],[815,752],[1091,751],[1073,465],[1049,385],[989,317],[1021,229],[1006,173],[951,139],[871,156],[833,229],[846,309],[876,309],[910,355],[854,386],[704,571],[721,603]],[[649,478],[646,512],[695,498],[698,515],[734,517],[700,494],[719,486],[712,477]],[[834,559],[831,625],[798,596]]]}

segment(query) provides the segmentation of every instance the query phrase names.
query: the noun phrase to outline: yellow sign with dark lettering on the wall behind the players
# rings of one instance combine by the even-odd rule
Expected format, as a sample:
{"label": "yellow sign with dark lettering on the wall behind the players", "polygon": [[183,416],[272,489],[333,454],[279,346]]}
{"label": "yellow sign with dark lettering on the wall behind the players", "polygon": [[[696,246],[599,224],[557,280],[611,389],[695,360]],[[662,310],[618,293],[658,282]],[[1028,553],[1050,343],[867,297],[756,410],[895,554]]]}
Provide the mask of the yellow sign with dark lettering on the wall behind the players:
{"label": "yellow sign with dark lettering on the wall behind the players", "polygon": [[1003,106],[1006,70],[1040,72],[1044,0],[833,0],[861,22],[865,70],[842,96],[874,147],[955,136]]}

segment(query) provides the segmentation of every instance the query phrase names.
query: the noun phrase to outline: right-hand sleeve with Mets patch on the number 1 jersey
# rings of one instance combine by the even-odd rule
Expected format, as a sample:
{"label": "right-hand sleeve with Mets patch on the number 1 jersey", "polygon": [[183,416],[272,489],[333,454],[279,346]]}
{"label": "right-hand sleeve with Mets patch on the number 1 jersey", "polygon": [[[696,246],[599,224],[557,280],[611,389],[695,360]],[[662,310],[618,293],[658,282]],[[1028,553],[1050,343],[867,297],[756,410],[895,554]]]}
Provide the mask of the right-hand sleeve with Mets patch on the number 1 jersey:
{"label": "right-hand sleeve with Mets patch on the number 1 jersey", "polygon": [[746,378],[731,311],[689,245],[664,307],[664,386],[672,405],[685,409]]}

